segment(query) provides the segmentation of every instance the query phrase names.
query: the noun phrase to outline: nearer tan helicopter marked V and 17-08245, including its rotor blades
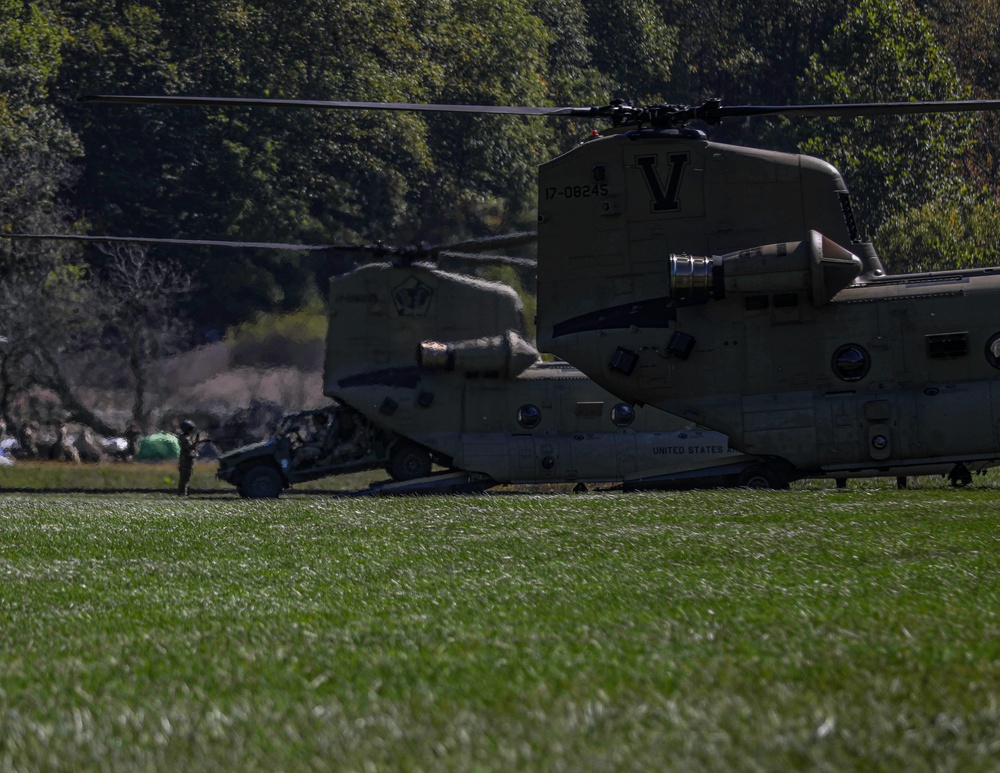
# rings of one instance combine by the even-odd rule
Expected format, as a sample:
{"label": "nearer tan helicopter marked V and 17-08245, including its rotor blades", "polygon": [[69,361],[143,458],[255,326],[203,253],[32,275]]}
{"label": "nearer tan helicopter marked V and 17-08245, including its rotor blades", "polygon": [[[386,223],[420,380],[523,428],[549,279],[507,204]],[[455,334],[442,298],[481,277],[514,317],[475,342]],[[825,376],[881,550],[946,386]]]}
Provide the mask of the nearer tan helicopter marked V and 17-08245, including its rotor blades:
{"label": "nearer tan helicopter marked V and 17-08245, including its rotor blades", "polygon": [[840,174],[687,127],[993,111],[997,100],[513,107],[97,96],[191,106],[605,118],[539,168],[538,348],[630,405],[724,433],[770,485],[1000,463],[1000,267],[887,275]]}

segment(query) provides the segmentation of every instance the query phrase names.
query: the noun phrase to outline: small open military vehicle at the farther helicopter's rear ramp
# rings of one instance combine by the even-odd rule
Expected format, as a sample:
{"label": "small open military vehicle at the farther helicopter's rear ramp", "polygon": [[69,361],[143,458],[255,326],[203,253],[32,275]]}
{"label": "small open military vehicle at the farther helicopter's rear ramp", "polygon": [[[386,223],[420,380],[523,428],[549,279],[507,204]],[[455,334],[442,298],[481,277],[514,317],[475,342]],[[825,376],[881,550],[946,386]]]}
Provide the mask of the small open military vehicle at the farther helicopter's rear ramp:
{"label": "small open military vehicle at the farther helicopter's rear ramp", "polygon": [[296,483],[379,468],[397,481],[423,478],[433,461],[427,449],[334,403],[289,414],[269,439],[223,454],[216,476],[246,499],[274,499]]}

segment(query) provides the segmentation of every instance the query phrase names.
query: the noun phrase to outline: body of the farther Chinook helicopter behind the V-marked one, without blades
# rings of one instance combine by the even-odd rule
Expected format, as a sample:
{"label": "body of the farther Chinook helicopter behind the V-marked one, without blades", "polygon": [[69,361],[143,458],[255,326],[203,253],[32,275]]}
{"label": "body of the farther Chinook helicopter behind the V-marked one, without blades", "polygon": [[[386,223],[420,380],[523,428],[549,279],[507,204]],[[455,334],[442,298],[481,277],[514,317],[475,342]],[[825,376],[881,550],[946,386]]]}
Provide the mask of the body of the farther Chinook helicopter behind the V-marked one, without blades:
{"label": "body of the farther Chinook helicopter behind the V-marked one, without blades", "polygon": [[433,459],[483,487],[755,482],[724,435],[543,362],[509,287],[441,270],[434,250],[393,253],[331,279],[324,392],[412,441],[414,471]]}

